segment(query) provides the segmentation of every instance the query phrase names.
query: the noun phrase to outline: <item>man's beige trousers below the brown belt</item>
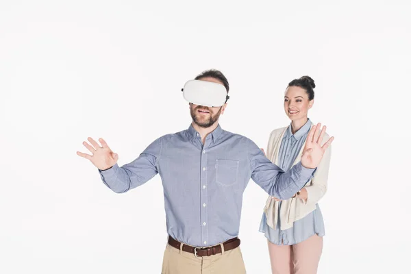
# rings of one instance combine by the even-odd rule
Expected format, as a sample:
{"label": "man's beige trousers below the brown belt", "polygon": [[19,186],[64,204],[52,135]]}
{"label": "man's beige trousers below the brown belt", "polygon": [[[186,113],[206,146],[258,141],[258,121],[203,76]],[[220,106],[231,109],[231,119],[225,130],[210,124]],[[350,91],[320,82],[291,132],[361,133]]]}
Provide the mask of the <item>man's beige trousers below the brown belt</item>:
{"label": "man's beige trousers below the brown belt", "polygon": [[245,274],[240,247],[212,256],[195,257],[171,245],[166,246],[162,274]]}

